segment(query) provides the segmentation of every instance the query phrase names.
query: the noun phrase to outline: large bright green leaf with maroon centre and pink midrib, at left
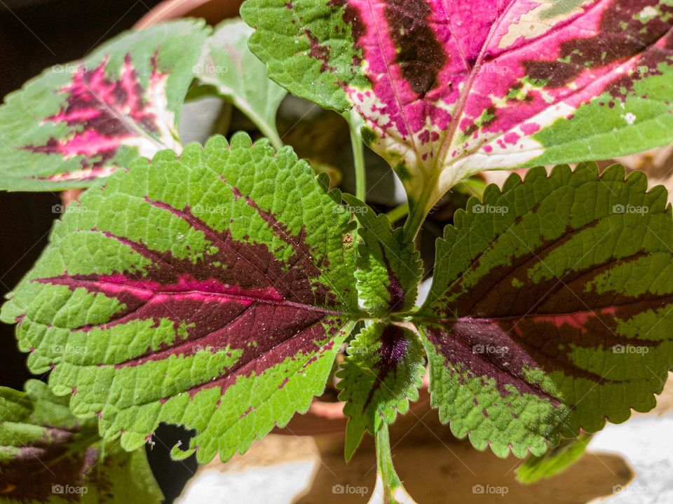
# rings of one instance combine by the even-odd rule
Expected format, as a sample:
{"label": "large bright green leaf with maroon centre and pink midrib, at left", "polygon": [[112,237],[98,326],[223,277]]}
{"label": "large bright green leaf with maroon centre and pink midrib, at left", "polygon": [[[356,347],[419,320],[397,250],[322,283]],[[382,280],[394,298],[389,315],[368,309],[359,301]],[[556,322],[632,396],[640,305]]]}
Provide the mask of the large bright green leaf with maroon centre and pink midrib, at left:
{"label": "large bright green leaf with maroon centre and pink midrib, at left", "polygon": [[229,458],[308,409],[360,318],[328,185],[245,134],[140,159],[57,222],[3,320],[104,437],[175,423],[197,433],[175,456]]}

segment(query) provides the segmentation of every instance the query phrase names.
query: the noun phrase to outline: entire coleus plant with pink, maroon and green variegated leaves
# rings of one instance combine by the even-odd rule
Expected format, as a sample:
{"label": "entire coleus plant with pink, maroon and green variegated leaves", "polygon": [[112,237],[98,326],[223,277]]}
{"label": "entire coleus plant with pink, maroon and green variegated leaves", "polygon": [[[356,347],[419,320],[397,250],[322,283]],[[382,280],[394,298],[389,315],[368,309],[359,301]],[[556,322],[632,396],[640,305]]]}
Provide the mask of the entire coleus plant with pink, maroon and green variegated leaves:
{"label": "entire coleus plant with pink, maroon and green variegated leaves", "polygon": [[[346,457],[374,435],[372,500],[409,502],[388,425],[426,364],[456,436],[537,457],[524,481],[655,405],[673,366],[671,206],[644,174],[588,161],[672,142],[668,2],[248,0],[242,15],[250,28],[127,34],[0,108],[4,189],[90,186],[1,315],[29,368],[71,396],[49,400],[69,404],[68,425],[97,421],[88,445],[134,451],[175,423],[196,434],[173,456],[226,460],[306,412],[345,351]],[[356,196],[282,147],[286,90],[349,121]],[[271,143],[182,147],[182,104],[203,93]],[[402,228],[364,201],[361,139],[407,190]],[[470,198],[416,306],[414,238],[444,193],[482,170],[553,164]],[[25,448],[75,437],[45,416],[20,416],[32,426],[19,444],[4,436],[1,475]]]}

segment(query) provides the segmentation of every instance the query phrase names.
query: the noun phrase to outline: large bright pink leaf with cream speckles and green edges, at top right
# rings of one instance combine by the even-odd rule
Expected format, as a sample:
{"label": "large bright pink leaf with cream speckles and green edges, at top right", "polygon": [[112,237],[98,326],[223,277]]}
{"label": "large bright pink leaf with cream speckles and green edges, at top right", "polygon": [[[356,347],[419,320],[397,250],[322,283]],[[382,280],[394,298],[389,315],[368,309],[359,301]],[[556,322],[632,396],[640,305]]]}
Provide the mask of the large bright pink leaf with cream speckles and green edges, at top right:
{"label": "large bright pink leaf with cream speckles and green edges, at top right", "polygon": [[323,107],[355,107],[412,218],[482,170],[673,140],[667,0],[248,0],[251,48]]}

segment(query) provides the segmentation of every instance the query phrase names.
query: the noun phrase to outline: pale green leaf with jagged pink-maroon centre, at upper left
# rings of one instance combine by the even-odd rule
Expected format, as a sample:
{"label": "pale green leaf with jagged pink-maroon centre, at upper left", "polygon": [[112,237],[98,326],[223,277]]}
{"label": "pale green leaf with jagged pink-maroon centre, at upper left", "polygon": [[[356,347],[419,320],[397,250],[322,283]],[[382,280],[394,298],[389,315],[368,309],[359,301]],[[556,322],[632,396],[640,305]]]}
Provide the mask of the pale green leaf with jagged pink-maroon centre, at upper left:
{"label": "pale green leaf with jagged pink-maroon centre, at upper left", "polygon": [[0,189],[90,186],[138,154],[179,150],[179,114],[208,31],[183,20],[122,34],[8,95]]}

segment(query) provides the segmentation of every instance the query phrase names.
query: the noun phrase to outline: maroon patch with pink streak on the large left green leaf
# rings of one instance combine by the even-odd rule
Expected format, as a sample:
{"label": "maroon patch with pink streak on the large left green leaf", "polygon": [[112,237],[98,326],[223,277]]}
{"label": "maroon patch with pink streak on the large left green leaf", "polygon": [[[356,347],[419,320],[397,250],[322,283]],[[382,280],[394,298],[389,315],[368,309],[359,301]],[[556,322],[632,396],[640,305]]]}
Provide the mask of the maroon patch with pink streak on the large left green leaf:
{"label": "maroon patch with pink streak on the large left green leaf", "polygon": [[[236,198],[241,197],[238,189],[232,190]],[[263,372],[298,353],[317,353],[322,345],[316,342],[324,339],[325,326],[336,332],[339,316],[344,315],[337,309],[334,294],[315,280],[320,269],[311,261],[304,232],[291,236],[272,214],[261,210],[250,198],[245,199],[295,251],[287,263],[277,259],[266,245],[234,240],[228,229],[215,231],[189,207],[176,210],[148,198],[150,205],[171,212],[201,231],[217,247],[217,252],[193,262],[94,229],[135,250],[152,261],[152,266],[144,273],[60,275],[34,281],[66,285],[71,290],[84,288],[116,298],[124,306],[103,325],[74,330],[109,329],[144,319],[154,320],[156,325],[163,319],[171,320],[176,334],[181,327],[186,328],[184,338],[176,337],[159,348],[147,348],[147,353],[132,359],[107,362],[117,368],[165,360],[171,355],[194,355],[202,350],[243,350],[236,365],[223,370],[217,379],[189,389],[192,395],[215,386],[224,392],[238,376]]]}

